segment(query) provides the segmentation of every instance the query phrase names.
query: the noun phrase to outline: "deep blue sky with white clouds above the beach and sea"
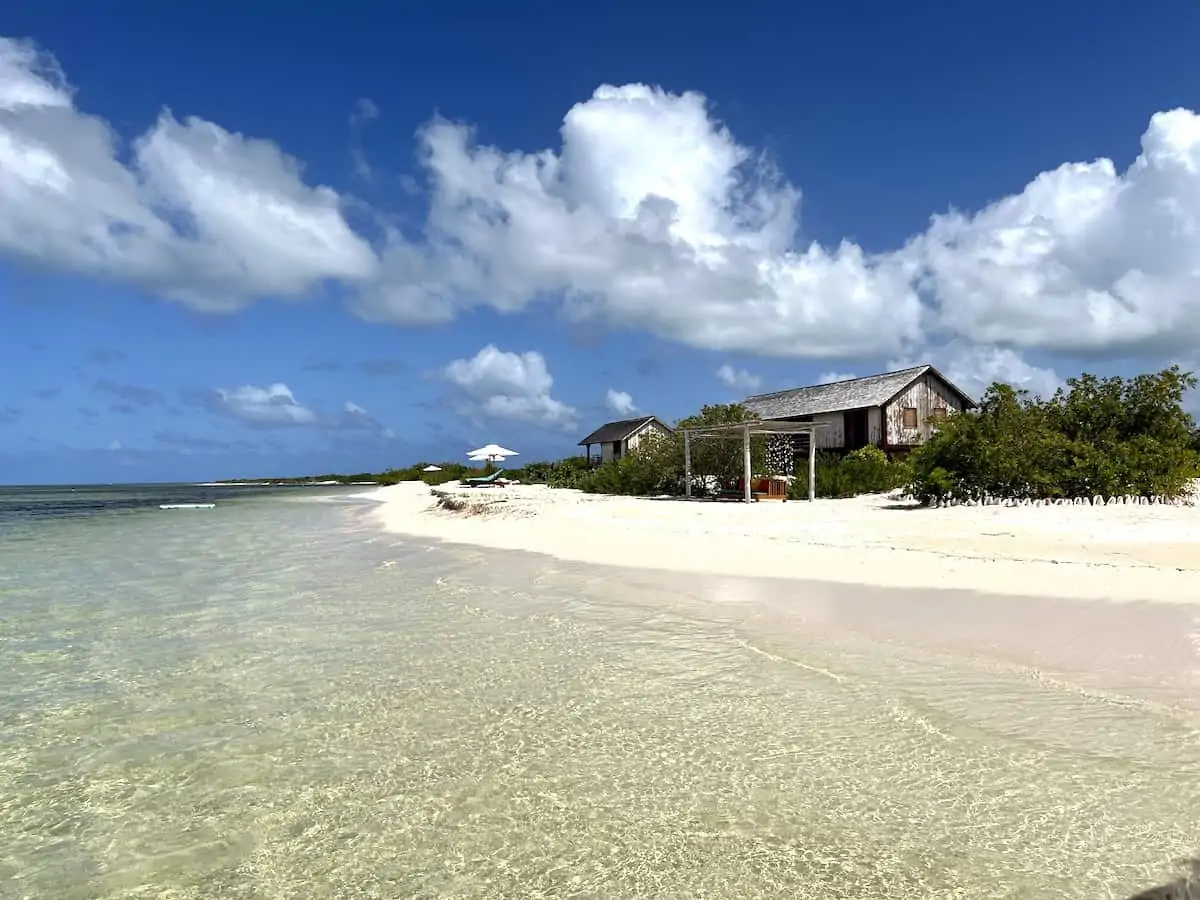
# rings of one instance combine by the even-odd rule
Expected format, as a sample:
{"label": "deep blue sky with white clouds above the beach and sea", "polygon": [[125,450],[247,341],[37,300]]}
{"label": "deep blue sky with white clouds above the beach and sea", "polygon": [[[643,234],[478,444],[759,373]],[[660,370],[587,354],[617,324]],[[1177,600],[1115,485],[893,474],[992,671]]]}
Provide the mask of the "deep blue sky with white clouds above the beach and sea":
{"label": "deep blue sky with white clouds above the beach and sea", "polygon": [[410,6],[6,6],[0,482],[1200,365],[1200,2]]}

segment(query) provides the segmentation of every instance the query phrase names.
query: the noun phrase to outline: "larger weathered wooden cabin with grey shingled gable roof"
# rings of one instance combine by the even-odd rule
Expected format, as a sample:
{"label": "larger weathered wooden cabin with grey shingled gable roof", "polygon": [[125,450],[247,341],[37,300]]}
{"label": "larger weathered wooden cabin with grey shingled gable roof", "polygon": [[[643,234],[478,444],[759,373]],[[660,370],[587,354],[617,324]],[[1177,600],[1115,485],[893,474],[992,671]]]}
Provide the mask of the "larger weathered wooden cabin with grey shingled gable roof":
{"label": "larger weathered wooden cabin with grey shingled gable roof", "polygon": [[911,450],[940,419],[976,406],[932,366],[758,394],[742,404],[761,419],[823,424],[818,450],[872,445],[886,452]]}

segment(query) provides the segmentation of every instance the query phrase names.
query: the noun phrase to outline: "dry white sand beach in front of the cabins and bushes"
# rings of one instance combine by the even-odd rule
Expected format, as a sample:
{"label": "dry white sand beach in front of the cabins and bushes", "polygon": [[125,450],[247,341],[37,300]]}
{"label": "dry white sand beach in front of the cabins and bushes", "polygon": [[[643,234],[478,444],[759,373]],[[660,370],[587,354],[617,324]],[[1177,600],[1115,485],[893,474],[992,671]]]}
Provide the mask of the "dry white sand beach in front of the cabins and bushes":
{"label": "dry white sand beach in front of the cabins and bushes", "polygon": [[[564,560],[1007,595],[1200,602],[1200,506],[714,503],[544,486],[364,494],[396,533]],[[451,499],[448,509],[439,498]]]}

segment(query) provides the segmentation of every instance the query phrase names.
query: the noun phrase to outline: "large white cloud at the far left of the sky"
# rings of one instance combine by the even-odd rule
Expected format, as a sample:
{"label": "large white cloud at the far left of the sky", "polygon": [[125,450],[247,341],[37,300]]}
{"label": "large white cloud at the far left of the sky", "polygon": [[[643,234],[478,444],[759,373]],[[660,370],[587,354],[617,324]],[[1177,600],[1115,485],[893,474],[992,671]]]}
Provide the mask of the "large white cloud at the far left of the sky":
{"label": "large white cloud at the far left of the sky", "polygon": [[164,110],[124,155],[53,59],[0,38],[0,253],[204,311],[374,272],[337,193],[270,142]]}

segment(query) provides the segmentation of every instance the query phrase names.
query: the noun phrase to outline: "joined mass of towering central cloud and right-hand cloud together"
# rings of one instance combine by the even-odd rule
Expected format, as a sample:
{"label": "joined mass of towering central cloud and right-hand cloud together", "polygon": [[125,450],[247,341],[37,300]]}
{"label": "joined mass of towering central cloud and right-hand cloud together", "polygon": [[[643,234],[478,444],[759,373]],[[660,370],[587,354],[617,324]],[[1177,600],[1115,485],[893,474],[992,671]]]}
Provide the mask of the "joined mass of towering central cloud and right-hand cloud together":
{"label": "joined mass of towering central cloud and right-hand cloud together", "polygon": [[568,112],[558,150],[481,146],[445,121],[422,131],[421,150],[433,200],[420,271],[437,275],[426,293],[442,316],[485,284],[502,310],[562,293],[577,318],[811,358],[912,352],[930,335],[1126,353],[1200,334],[1189,110],[1154,115],[1124,172],[1064,164],[878,254],[793,246],[799,191],[698,94],[601,86]]}

